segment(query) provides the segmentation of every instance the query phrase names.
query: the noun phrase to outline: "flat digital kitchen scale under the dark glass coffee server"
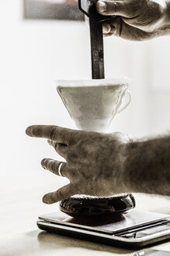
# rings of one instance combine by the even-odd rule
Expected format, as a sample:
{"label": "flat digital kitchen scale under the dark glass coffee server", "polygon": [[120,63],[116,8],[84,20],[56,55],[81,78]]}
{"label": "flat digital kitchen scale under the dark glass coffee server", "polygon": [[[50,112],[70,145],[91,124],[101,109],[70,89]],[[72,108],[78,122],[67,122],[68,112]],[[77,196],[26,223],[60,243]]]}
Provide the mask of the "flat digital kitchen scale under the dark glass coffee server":
{"label": "flat digital kitchen scale under the dark glass coffee server", "polygon": [[137,210],[87,219],[53,212],[40,215],[37,226],[50,233],[118,247],[145,247],[170,238],[169,215]]}

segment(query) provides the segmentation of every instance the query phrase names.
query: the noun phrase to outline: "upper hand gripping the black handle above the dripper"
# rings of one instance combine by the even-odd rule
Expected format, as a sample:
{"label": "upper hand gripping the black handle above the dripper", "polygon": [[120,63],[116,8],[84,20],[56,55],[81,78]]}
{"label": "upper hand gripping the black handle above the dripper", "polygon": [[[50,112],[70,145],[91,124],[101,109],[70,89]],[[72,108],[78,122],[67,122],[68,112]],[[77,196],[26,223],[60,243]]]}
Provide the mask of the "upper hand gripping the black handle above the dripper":
{"label": "upper hand gripping the black handle above the dripper", "polygon": [[99,0],[97,11],[115,16],[103,23],[106,36],[143,41],[170,34],[169,0]]}

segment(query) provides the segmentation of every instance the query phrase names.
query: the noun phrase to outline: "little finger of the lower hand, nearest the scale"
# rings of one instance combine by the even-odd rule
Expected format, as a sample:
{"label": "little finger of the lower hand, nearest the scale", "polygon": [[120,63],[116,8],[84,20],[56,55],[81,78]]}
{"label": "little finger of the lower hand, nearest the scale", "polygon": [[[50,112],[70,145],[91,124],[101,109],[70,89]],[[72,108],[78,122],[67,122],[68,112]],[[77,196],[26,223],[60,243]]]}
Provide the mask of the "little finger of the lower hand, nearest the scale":
{"label": "little finger of the lower hand, nearest the scale", "polygon": [[55,192],[45,194],[43,196],[43,203],[54,204],[57,201],[68,199],[68,197],[71,197],[74,194],[76,194],[76,186],[72,183],[69,183],[68,185],[61,187],[59,190]]}

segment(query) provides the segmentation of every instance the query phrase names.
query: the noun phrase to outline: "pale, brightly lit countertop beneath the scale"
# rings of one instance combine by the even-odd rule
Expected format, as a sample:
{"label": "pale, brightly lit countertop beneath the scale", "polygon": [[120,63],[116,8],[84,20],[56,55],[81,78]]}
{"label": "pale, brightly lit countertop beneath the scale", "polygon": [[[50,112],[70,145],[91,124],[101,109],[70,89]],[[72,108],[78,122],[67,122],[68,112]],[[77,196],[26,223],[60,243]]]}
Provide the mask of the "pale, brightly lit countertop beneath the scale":
{"label": "pale, brightly lit countertop beneath the scale", "polygon": [[[37,228],[38,215],[55,212],[57,204],[46,205],[41,197],[66,181],[40,170],[7,173],[1,180],[0,255],[129,255],[132,251],[95,244],[71,237],[45,233]],[[59,185],[60,184],[60,185]],[[170,198],[135,194],[137,209],[170,214]],[[170,252],[170,241],[155,248]]]}

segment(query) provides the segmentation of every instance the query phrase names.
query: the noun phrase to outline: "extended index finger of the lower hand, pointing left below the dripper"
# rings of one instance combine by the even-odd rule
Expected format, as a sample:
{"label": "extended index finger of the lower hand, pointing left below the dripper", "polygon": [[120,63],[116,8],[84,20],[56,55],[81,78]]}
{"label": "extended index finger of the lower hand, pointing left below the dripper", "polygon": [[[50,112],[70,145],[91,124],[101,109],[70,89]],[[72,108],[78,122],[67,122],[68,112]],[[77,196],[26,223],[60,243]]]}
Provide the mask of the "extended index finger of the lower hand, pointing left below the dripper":
{"label": "extended index finger of the lower hand, pointing left below the dripper", "polygon": [[63,128],[60,126],[29,126],[26,129],[26,134],[30,137],[42,137],[50,140],[55,140],[61,144],[69,144],[74,138],[76,130]]}

